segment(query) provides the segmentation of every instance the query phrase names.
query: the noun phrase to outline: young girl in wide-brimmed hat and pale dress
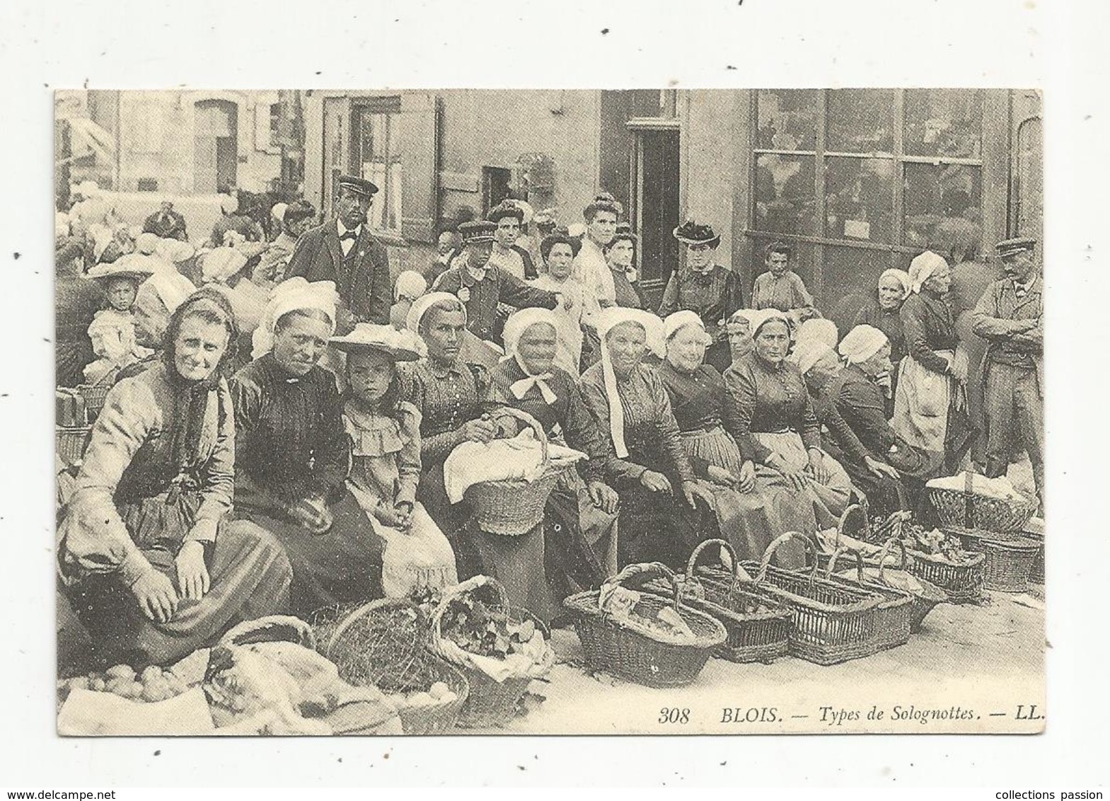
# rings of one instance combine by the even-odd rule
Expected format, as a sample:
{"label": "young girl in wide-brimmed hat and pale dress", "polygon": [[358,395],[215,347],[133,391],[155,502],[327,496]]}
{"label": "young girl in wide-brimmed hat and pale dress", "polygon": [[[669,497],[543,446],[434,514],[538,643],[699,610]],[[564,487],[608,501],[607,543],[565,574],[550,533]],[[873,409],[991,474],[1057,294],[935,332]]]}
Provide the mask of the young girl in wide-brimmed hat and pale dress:
{"label": "young girl in wide-brimmed hat and pale dress", "polygon": [[396,362],[415,361],[421,343],[407,331],[359,323],[331,343],[346,352],[343,421],[351,438],[347,488],[385,540],[382,589],[401,598],[458,582],[447,538],[416,501],[421,475],[420,410],[401,400]]}

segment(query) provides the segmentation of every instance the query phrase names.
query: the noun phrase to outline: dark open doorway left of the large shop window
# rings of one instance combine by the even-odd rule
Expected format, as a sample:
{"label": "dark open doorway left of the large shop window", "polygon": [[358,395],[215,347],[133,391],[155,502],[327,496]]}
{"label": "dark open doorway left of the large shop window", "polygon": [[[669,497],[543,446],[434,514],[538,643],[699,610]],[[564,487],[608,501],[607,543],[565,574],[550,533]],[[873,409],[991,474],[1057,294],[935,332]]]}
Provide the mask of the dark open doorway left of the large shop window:
{"label": "dark open doorway left of the large shop window", "polygon": [[633,220],[639,234],[638,267],[644,291],[656,302],[678,266],[673,232],[679,213],[679,133],[676,128],[635,132]]}

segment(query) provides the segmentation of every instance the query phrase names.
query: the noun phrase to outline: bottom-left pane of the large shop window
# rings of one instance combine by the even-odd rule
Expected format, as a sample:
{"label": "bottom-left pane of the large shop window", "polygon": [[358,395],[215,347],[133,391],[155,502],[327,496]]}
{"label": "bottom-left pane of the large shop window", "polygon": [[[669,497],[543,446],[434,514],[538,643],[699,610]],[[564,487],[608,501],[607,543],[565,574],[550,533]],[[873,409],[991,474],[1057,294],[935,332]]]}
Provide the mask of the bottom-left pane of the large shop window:
{"label": "bottom-left pane of the large shop window", "polygon": [[760,231],[816,236],[814,158],[756,157],[756,222]]}

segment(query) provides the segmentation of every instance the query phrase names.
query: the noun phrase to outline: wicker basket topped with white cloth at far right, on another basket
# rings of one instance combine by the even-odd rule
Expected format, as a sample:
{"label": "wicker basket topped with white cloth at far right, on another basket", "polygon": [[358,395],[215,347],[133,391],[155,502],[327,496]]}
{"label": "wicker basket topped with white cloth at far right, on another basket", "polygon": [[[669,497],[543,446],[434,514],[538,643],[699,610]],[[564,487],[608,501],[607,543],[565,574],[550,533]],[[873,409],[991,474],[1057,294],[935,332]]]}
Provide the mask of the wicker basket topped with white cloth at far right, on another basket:
{"label": "wicker basket topped with white cloth at far right, on another basket", "polygon": [[1020,531],[1037,511],[1036,501],[1016,492],[1005,477],[988,479],[966,471],[934,479],[926,489],[945,528]]}

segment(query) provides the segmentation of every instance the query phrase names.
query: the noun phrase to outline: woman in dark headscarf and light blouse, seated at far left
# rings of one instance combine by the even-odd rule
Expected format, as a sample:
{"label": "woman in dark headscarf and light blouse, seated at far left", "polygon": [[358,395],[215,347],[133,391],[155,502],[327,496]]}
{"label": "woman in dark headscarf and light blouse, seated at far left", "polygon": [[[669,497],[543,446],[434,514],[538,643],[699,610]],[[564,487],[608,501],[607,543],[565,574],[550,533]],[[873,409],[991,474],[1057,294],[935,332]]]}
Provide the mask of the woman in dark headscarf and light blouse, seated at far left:
{"label": "woman in dark headscarf and light blouse, seated at far left", "polygon": [[162,359],[108,393],[58,528],[58,560],[98,661],[167,664],[231,625],[286,611],[290,565],[231,520],[234,423],[222,370],[235,320],[204,290],[178,307]]}

